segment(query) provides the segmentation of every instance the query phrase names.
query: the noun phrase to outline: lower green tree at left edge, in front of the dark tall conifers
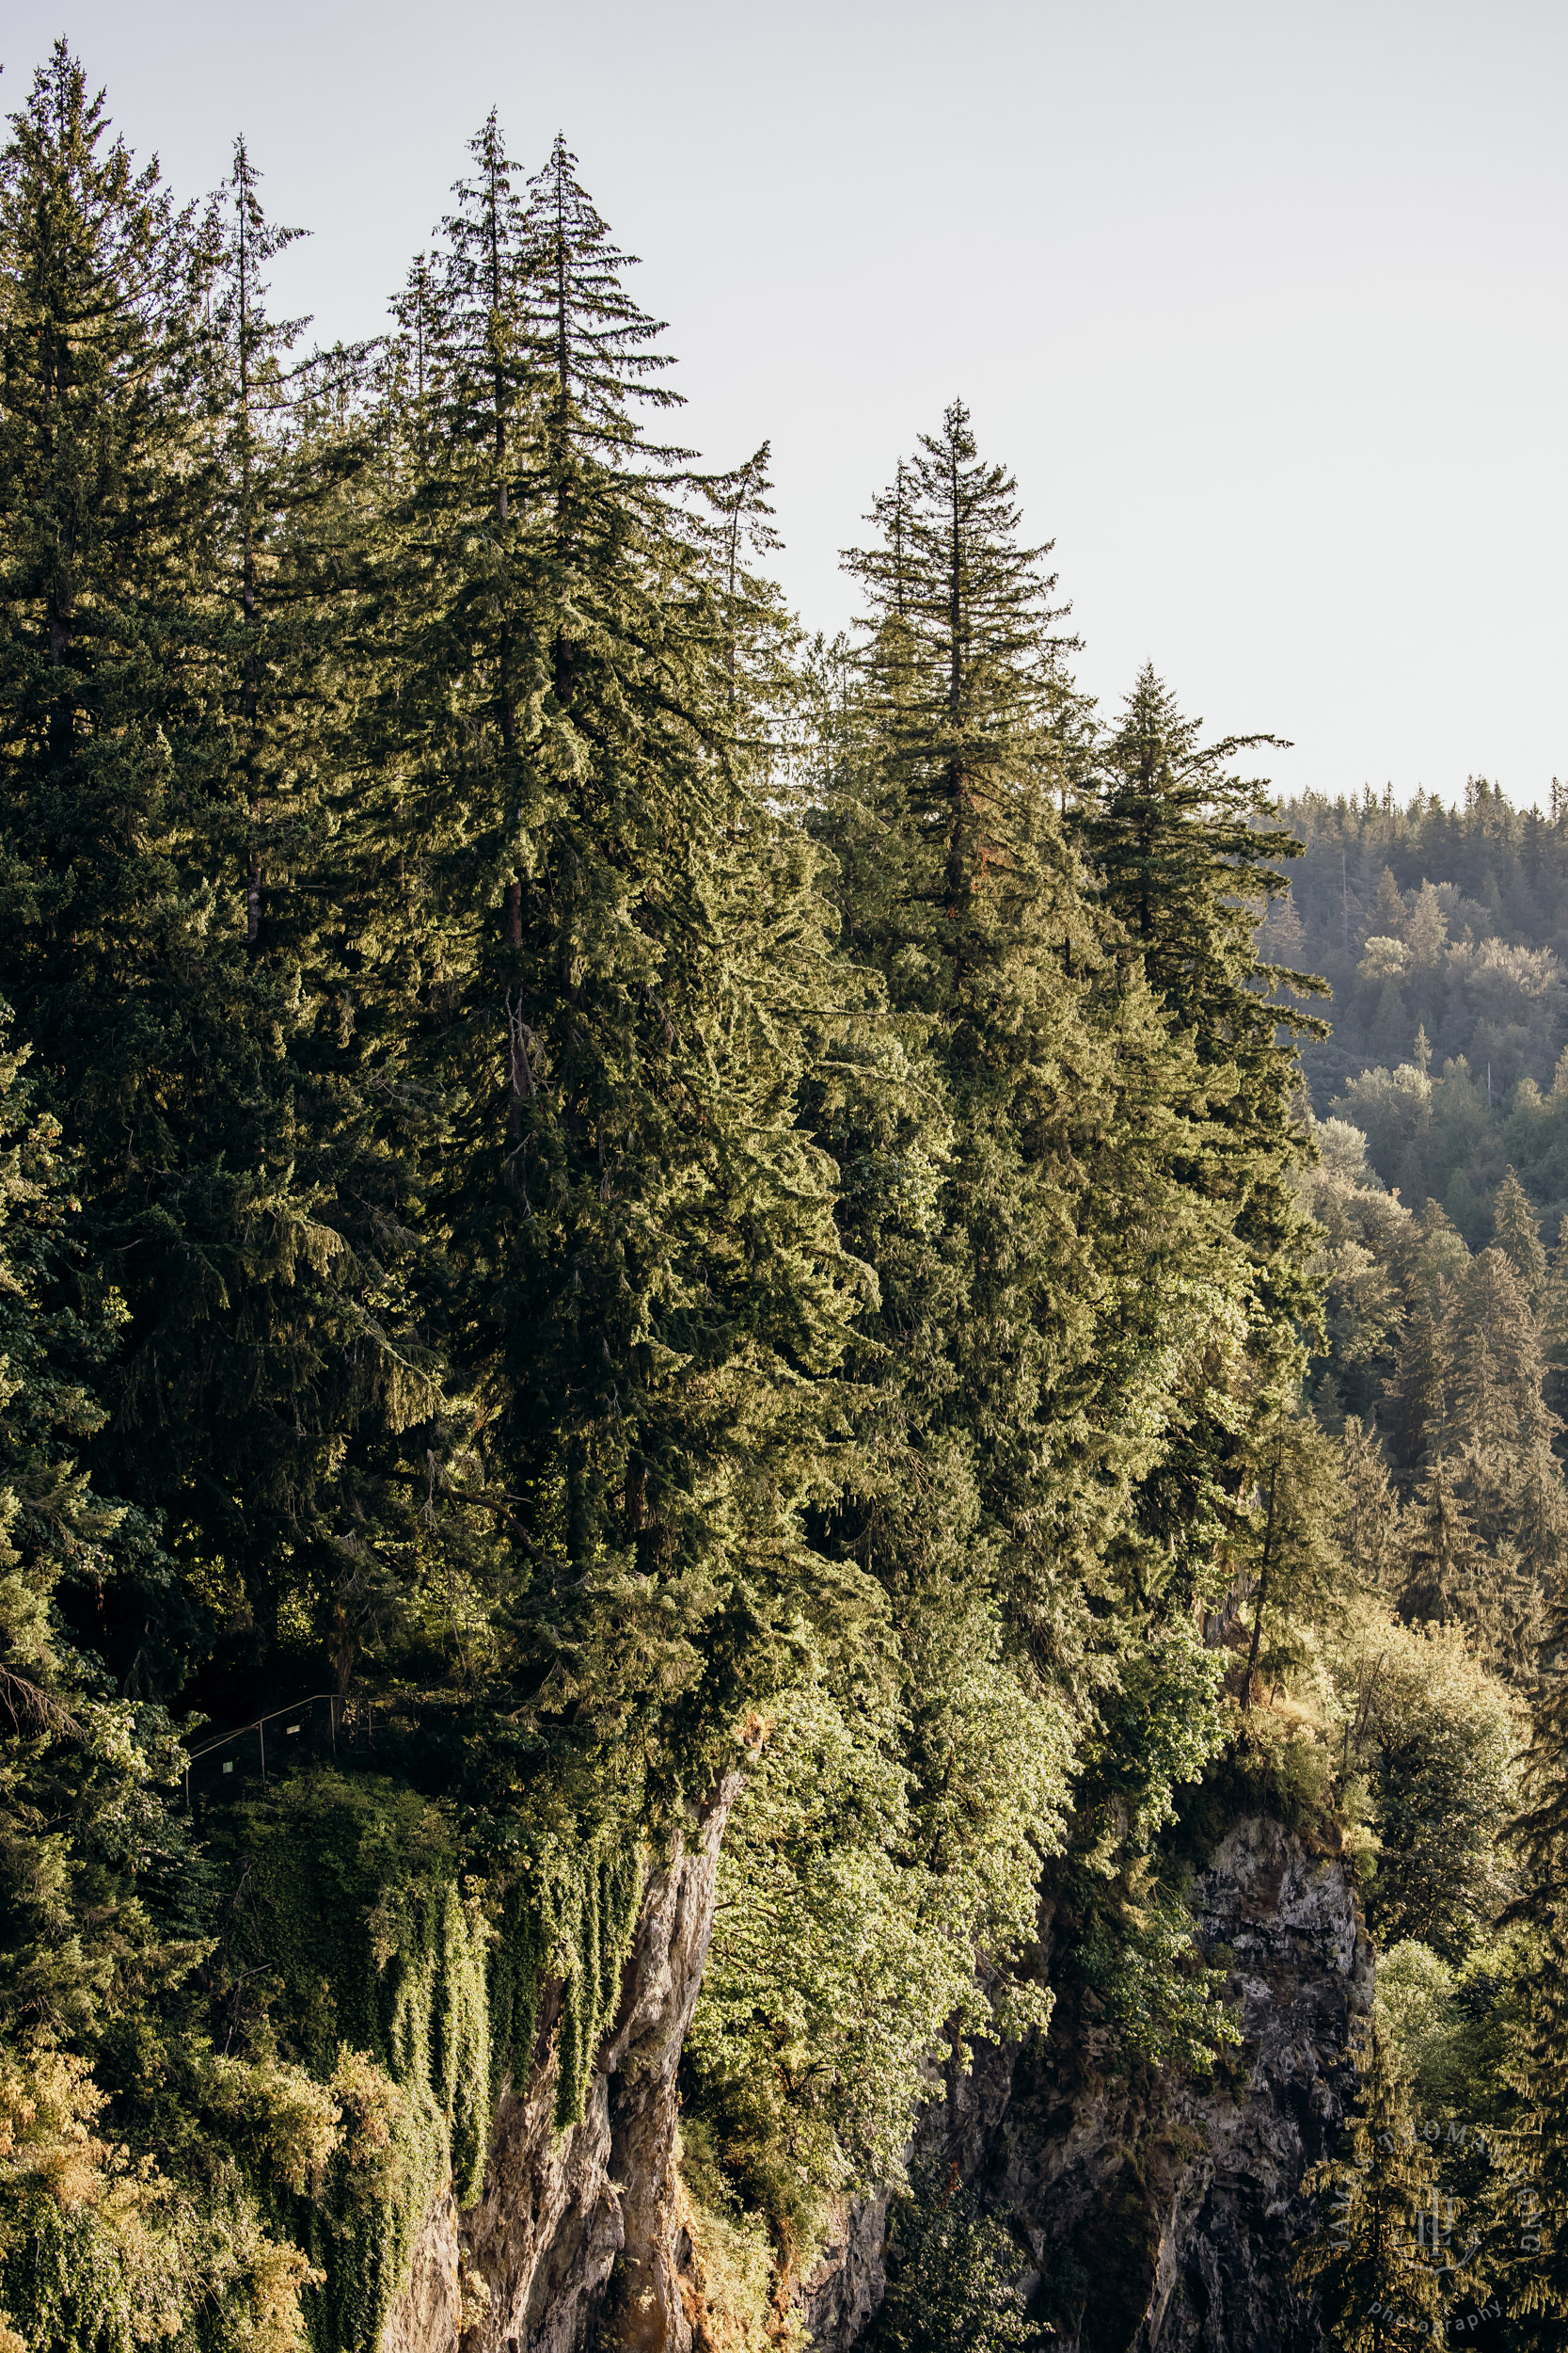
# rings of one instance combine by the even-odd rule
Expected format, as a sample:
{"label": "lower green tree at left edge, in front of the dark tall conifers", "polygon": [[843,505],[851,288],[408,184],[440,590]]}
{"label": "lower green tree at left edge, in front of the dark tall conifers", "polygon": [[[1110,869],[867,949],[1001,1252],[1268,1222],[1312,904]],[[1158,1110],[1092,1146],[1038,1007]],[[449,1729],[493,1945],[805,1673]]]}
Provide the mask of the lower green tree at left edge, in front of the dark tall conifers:
{"label": "lower green tree at left edge, in front of the dark tall conifers", "polygon": [[80,1466],[113,1329],[47,1306],[75,1202],[26,1059],[0,1052],[0,2052],[94,2052],[127,1998],[200,1958],[202,1873],[167,1798],[181,1753],[162,1711],[108,1699],[78,1633],[169,1562]]}

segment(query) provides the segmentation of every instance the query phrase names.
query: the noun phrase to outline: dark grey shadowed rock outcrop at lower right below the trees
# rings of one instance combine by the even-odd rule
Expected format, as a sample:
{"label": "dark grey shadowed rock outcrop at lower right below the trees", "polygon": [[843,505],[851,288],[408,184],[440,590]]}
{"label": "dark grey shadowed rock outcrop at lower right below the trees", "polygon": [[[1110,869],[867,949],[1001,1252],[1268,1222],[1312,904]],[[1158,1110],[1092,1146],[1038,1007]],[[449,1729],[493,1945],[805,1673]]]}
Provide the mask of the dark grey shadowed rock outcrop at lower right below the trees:
{"label": "dark grey shadowed rock outcrop at lower right below the trees", "polygon": [[[1030,2304],[1063,2353],[1312,2353],[1291,2266],[1312,2214],[1302,2174],[1354,2089],[1352,2033],[1373,1958],[1349,1873],[1276,1821],[1232,1826],[1194,1887],[1244,2042],[1208,2082],[1112,2068],[1110,2035],[1063,2007],[1039,2047],[980,2047],[926,2115],[1027,2247]],[[865,2205],[806,2289],[825,2353],[849,2353],[882,2297]]]}

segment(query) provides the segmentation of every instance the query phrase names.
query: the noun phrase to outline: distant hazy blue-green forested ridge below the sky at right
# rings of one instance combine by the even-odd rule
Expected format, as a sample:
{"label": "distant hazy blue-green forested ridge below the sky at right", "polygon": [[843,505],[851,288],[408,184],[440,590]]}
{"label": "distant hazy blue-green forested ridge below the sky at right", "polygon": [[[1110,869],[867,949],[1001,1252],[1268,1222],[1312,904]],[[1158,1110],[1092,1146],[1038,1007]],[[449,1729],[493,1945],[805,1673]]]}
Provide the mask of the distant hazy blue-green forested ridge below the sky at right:
{"label": "distant hazy blue-green forested ridge below the sky at right", "polygon": [[1319,1118],[1366,1134],[1385,1184],[1490,1235],[1509,1167],[1556,1228],[1568,1212],[1568,791],[1516,809],[1472,779],[1281,802],[1302,842],[1262,953],[1321,972],[1333,1033],[1302,1040]]}

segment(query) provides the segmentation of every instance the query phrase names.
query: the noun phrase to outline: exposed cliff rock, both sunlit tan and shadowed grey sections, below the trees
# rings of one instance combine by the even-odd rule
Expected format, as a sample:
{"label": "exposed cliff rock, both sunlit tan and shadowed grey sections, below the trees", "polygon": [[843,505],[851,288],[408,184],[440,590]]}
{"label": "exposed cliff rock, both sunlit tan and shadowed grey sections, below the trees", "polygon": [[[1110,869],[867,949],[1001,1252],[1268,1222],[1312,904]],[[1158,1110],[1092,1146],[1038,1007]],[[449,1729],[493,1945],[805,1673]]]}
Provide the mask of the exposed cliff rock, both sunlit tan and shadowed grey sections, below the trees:
{"label": "exposed cliff rock, both sunlit tan and shadowed grey sections, below the trees", "polygon": [[[738,1777],[646,1889],[588,2115],[552,2132],[555,2061],[496,2120],[484,2198],[430,2217],[383,2353],[691,2353],[672,2198],[675,2075],[712,1932]],[[1105,2066],[1107,2035],[1058,2014],[1039,2049],[983,2047],[922,2127],[1027,2245],[1025,2287],[1063,2353],[1312,2353],[1288,2285],[1305,2169],[1354,2089],[1373,1962],[1345,1866],[1274,1821],[1232,1826],[1194,1889],[1244,2045],[1213,2082]],[[557,1988],[559,1991],[559,1988]],[[552,2007],[541,2014],[550,2052]],[[884,2294],[886,2193],[858,2200],[802,2289],[825,2353]]]}

